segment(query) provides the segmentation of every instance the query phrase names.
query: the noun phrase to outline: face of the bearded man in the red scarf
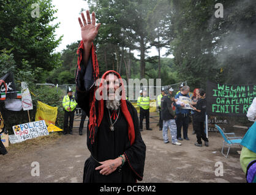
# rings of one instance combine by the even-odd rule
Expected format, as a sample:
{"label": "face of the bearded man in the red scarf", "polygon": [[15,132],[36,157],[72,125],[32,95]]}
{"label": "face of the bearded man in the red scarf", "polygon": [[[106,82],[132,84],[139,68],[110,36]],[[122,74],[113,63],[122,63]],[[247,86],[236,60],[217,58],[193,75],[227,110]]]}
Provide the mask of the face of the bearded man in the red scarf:
{"label": "face of the bearded man in the red scarf", "polygon": [[115,92],[120,87],[120,85],[119,85],[119,79],[115,74],[110,73],[106,76],[104,87],[107,87],[108,100],[115,100],[115,98],[118,98],[118,97],[115,97]]}

